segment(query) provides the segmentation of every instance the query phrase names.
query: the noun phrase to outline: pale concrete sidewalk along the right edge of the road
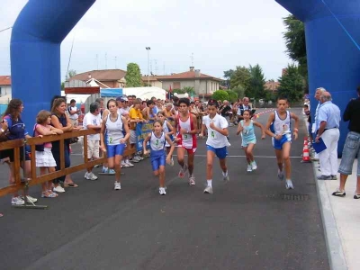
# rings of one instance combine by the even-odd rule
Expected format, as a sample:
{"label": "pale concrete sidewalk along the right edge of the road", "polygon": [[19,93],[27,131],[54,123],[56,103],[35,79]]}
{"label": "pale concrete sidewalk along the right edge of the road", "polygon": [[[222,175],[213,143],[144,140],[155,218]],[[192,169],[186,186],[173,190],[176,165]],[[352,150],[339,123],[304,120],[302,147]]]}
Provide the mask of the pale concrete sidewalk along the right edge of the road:
{"label": "pale concrete sidewalk along the right edge of the road", "polygon": [[[338,163],[340,164],[338,159]],[[319,162],[314,162],[315,177],[321,175]],[[360,256],[357,244],[360,242],[358,210],[360,200],[355,200],[357,160],[353,174],[347,178],[345,197],[331,195],[339,185],[339,180],[316,180],[322,219],[327,238],[329,264],[333,270],[357,270],[360,268]],[[338,175],[339,178],[339,175]]]}

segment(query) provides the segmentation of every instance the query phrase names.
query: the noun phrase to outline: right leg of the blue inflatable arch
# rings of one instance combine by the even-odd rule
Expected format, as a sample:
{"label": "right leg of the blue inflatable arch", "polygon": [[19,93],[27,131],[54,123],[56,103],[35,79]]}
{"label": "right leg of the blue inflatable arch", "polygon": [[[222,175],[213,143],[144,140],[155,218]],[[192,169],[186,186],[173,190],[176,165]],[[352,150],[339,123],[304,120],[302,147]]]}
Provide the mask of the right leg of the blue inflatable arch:
{"label": "right leg of the blue inflatable arch", "polygon": [[[356,87],[360,85],[360,50],[356,45],[360,42],[360,4],[355,0],[276,2],[305,23],[312,119],[318,103],[314,99],[318,87],[325,87],[333,102],[344,112],[349,100],[356,97]],[[347,122],[341,122],[339,157],[346,137]]]}

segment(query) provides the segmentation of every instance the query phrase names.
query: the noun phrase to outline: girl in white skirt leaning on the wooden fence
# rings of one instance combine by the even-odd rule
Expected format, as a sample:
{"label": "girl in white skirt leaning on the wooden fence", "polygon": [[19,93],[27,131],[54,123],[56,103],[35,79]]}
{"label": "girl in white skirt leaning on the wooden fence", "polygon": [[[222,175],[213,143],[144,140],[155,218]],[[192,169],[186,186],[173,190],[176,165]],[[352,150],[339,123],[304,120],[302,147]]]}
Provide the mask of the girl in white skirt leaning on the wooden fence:
{"label": "girl in white skirt leaning on the wooden fence", "polygon": [[[34,126],[34,137],[64,133],[63,130],[59,130],[50,125],[51,112],[41,110],[36,116],[36,122],[37,123]],[[51,148],[51,142],[36,145],[35,147],[36,166],[40,168],[40,175],[45,175],[46,173],[50,174],[56,171],[57,164],[55,158],[52,156]],[[42,198],[55,198],[58,196],[58,193],[51,190],[52,181],[42,183],[41,188]]]}

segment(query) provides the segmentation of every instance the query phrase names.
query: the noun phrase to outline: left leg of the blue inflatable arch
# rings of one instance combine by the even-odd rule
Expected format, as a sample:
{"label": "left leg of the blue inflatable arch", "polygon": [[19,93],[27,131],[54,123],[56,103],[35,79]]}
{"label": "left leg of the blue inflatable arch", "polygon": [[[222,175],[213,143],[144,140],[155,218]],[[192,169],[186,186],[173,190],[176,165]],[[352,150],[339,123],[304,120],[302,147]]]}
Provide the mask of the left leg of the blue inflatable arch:
{"label": "left leg of the blue inflatable arch", "polygon": [[28,130],[37,112],[60,94],[60,44],[95,0],[29,0],[14,23],[11,75],[14,98],[24,102]]}

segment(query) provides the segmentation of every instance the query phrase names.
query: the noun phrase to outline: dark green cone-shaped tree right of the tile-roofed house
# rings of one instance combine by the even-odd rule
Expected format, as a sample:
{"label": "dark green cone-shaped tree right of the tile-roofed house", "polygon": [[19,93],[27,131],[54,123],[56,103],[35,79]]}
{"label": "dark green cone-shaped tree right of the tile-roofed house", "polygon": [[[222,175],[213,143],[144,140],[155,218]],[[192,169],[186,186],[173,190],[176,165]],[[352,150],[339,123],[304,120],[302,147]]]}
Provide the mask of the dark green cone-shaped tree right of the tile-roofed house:
{"label": "dark green cone-shaped tree right of the tile-roofed house", "polygon": [[248,86],[245,88],[245,95],[247,95],[250,98],[255,98],[256,100],[259,100],[261,98],[265,98],[265,77],[263,73],[263,69],[256,65],[248,68],[250,71],[250,80],[248,83]]}

